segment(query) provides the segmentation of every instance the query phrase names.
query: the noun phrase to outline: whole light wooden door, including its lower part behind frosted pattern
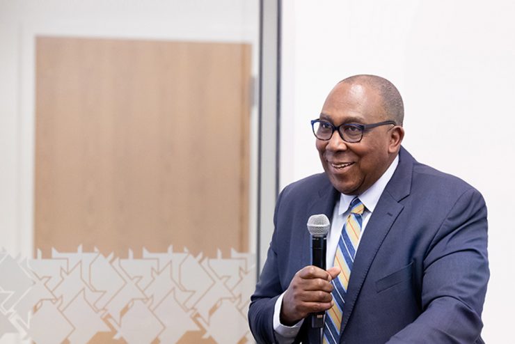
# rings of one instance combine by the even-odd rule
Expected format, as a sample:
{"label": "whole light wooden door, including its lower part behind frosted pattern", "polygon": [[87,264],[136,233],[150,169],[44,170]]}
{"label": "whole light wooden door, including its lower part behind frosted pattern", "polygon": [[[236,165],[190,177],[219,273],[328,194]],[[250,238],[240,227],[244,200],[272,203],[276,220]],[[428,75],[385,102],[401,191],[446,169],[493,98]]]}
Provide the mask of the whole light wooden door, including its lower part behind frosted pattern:
{"label": "whole light wooden door, including its lower part behind frosted pattern", "polygon": [[31,338],[247,341],[250,80],[246,44],[37,38]]}

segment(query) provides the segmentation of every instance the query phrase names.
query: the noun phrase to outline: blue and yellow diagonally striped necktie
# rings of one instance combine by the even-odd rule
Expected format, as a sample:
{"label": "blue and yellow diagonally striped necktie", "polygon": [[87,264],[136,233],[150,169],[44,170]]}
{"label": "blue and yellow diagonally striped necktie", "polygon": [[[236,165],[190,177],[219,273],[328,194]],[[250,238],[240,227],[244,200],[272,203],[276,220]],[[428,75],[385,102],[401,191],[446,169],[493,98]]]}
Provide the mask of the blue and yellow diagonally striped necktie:
{"label": "blue and yellow diagonally striped necktie", "polygon": [[336,248],[334,266],[340,267],[341,272],[337,278],[331,281],[334,287],[332,292],[334,305],[327,311],[324,325],[324,344],[338,343],[340,339],[344,298],[349,286],[352,263],[354,263],[354,256],[356,256],[361,235],[362,214],[365,211],[365,206],[356,197],[351,201],[349,208],[351,212],[343,225],[342,234]]}

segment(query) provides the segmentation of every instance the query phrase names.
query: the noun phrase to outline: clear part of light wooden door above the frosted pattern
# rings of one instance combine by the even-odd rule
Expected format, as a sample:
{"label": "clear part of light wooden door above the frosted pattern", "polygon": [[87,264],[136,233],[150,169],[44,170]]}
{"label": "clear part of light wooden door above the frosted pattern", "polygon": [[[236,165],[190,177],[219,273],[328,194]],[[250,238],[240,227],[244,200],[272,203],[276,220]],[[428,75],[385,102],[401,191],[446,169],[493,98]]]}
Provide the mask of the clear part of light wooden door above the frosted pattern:
{"label": "clear part of light wooden door above the frosted pattern", "polygon": [[36,45],[35,249],[248,251],[250,45]]}

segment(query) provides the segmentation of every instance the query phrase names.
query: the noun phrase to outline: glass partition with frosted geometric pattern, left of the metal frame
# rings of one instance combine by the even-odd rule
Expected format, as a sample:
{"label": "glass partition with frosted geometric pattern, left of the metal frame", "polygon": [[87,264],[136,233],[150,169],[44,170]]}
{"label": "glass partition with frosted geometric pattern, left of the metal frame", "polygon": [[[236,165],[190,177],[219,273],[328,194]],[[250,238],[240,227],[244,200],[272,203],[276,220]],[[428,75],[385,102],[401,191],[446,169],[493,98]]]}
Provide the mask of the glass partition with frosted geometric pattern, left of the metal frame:
{"label": "glass partition with frosted geometric pattern, left of the metal frame", "polygon": [[0,13],[0,343],[251,343],[260,1]]}

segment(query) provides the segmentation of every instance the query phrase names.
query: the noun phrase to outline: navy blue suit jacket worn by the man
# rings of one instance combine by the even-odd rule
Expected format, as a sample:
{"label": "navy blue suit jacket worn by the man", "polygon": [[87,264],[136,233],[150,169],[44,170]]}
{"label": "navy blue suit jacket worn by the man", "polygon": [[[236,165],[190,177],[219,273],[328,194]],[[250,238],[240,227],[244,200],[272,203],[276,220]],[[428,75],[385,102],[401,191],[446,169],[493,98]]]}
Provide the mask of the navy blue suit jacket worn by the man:
{"label": "navy blue suit jacket worn by the man", "polygon": [[[258,343],[274,343],[276,299],[311,263],[308,217],[331,219],[339,196],[322,173],[278,197],[274,235],[248,311]],[[356,253],[340,343],[483,343],[486,230],[486,205],[476,189],[401,148]],[[304,321],[295,342],[317,343],[315,336]]]}

